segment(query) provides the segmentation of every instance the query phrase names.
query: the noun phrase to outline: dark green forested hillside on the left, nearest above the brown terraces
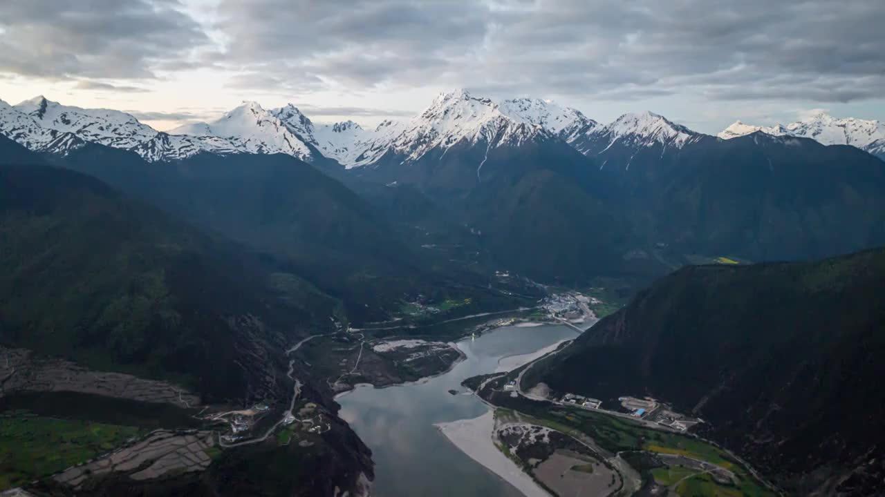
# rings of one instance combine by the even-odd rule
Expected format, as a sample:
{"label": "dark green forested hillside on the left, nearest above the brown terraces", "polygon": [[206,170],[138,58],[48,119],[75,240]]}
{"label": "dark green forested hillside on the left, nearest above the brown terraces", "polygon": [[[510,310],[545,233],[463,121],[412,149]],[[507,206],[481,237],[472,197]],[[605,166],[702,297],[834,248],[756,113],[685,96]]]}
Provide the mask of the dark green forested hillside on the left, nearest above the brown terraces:
{"label": "dark green forested hillside on the left, nearest above the brown terraces", "polygon": [[272,260],[80,173],[2,165],[0,192],[4,345],[242,399],[277,388],[274,351],[335,309]]}

